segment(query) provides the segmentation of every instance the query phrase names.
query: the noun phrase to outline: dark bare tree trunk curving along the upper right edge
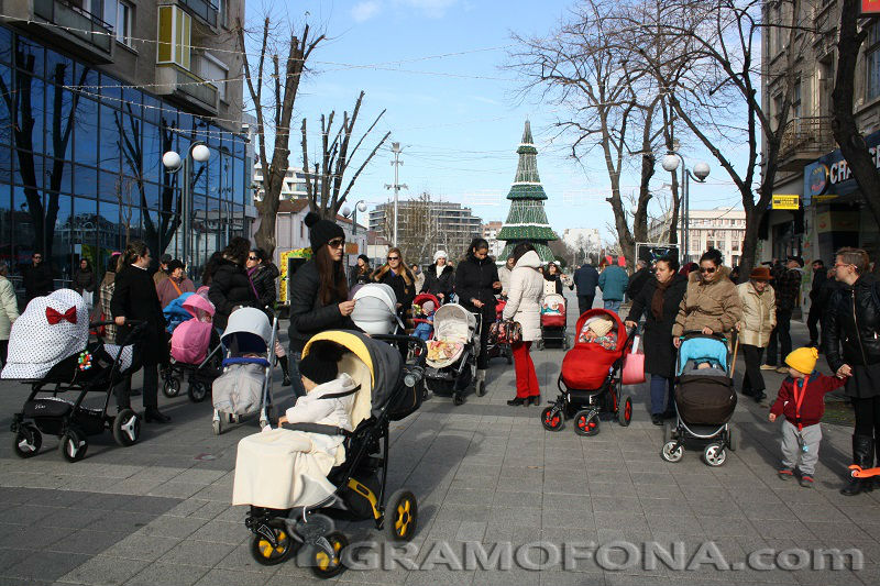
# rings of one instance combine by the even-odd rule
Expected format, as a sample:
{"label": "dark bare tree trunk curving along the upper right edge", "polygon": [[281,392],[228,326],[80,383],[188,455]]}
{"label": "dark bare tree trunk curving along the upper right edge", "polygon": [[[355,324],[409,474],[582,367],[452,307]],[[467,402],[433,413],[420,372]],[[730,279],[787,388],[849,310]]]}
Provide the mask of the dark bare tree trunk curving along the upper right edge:
{"label": "dark bare tree trunk curving along the upper right edge", "polygon": [[858,32],[858,14],[859,2],[844,0],[840,10],[840,36],[837,41],[837,77],[832,91],[832,131],[873,221],[880,224],[880,174],[877,173],[877,166],[853,112],[856,64],[859,47],[866,37],[866,31]]}

